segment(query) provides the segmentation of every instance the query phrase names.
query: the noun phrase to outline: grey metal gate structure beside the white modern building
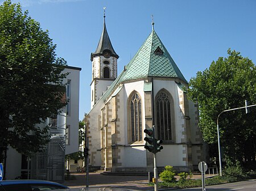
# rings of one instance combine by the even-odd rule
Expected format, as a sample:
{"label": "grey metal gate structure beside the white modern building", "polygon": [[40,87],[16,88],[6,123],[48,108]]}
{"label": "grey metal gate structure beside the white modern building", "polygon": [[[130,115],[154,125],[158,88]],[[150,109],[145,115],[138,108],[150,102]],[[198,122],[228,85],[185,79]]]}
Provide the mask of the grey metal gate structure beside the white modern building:
{"label": "grey metal gate structure beside the white modern building", "polygon": [[65,173],[65,127],[66,114],[60,113],[40,124],[40,128],[50,126],[51,141],[44,150],[31,157],[31,179],[64,181]]}

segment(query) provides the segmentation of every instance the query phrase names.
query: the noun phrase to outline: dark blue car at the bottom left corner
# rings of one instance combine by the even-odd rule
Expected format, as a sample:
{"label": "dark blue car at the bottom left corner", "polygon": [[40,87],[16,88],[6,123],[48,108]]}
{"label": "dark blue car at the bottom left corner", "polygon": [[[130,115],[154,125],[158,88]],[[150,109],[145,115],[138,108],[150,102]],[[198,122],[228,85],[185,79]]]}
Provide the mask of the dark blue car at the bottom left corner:
{"label": "dark blue car at the bottom left corner", "polygon": [[0,191],[40,191],[68,188],[62,184],[44,180],[3,180]]}

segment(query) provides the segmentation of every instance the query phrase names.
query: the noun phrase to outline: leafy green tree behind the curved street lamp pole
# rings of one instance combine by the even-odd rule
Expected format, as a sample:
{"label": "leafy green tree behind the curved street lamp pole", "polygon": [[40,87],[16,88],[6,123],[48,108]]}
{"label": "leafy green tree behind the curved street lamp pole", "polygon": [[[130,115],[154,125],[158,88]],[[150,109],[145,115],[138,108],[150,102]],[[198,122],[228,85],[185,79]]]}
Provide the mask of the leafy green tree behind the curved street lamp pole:
{"label": "leafy green tree behind the curved street lamp pole", "polygon": [[[219,57],[209,69],[199,71],[189,82],[188,96],[197,102],[200,111],[199,126],[204,141],[217,149],[216,120],[226,109],[245,106],[245,100],[256,103],[256,67],[240,52],[228,50],[228,57]],[[221,146],[226,162],[255,168],[256,108],[221,114],[219,119]],[[213,147],[212,147],[213,148]],[[216,153],[216,150],[212,153]]]}

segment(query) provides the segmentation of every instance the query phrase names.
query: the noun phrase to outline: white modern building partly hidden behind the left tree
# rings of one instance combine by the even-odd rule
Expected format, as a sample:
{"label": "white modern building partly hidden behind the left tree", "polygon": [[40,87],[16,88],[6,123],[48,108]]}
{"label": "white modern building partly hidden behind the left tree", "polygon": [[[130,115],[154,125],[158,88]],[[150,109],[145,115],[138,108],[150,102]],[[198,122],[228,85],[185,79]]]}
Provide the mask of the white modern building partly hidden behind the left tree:
{"label": "white modern building partly hidden behind the left tree", "polygon": [[51,141],[46,151],[37,152],[31,158],[19,154],[9,147],[6,159],[6,179],[40,179],[64,181],[65,154],[79,150],[79,67],[66,66],[63,73],[69,73],[63,83],[67,83],[66,97],[69,100],[62,113],[40,124],[43,128],[51,124]]}

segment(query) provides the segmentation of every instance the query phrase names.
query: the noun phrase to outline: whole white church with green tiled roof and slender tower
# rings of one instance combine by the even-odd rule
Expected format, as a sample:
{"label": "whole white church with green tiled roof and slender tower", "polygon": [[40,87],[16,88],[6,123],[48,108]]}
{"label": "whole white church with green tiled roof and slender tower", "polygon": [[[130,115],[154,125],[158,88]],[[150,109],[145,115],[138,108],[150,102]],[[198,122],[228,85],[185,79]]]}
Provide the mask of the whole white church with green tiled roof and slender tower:
{"label": "whole white church with green tiled roof and slender tower", "polygon": [[197,105],[187,99],[188,82],[154,30],[117,75],[118,54],[106,30],[91,54],[91,109],[85,116],[89,165],[112,172],[148,172],[153,154],[144,129],[155,126],[163,150],[159,169],[193,171],[205,159]]}

